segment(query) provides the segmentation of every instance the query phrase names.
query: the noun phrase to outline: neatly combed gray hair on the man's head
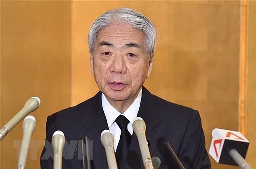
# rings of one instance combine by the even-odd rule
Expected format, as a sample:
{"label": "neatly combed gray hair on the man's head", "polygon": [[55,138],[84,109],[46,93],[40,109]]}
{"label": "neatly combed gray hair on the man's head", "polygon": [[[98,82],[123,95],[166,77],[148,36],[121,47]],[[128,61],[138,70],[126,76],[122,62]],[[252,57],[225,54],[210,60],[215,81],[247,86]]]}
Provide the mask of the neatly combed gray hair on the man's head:
{"label": "neatly combed gray hair on the man's head", "polygon": [[122,22],[131,25],[133,28],[140,30],[145,36],[146,50],[148,59],[154,54],[156,48],[156,28],[153,23],[144,15],[130,8],[118,8],[110,10],[98,17],[90,28],[88,34],[88,44],[90,55],[92,56],[96,37],[100,30],[111,25],[113,22]]}

